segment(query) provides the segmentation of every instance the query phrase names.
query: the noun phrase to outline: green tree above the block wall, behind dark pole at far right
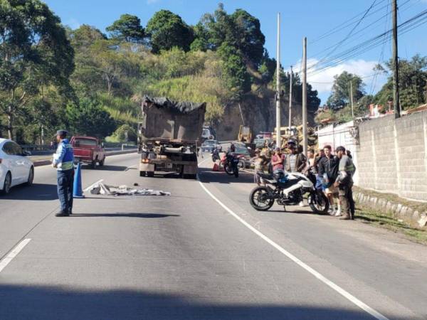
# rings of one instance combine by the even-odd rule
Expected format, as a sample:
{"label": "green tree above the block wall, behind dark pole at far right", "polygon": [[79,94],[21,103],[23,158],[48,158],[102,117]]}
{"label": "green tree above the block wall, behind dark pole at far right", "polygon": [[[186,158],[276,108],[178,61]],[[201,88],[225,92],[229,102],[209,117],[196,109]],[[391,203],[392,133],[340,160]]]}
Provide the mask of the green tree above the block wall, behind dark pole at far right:
{"label": "green tree above the block wall, behind dark pole at far right", "polygon": [[[386,68],[379,70],[389,74],[393,70],[393,61],[386,63]],[[399,60],[399,90],[402,109],[411,109],[427,102],[427,57],[415,55],[411,60]],[[374,97],[374,102],[387,105],[393,101],[393,76]]]}

